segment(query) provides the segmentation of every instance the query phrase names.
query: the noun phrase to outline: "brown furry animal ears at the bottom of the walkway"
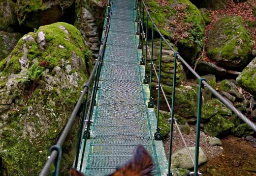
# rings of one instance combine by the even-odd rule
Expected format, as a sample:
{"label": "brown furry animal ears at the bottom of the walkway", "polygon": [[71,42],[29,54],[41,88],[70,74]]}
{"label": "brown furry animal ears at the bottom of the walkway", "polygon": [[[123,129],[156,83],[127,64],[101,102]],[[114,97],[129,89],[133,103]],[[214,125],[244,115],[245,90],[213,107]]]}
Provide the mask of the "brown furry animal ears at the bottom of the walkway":
{"label": "brown furry animal ears at the bottom of the walkway", "polygon": [[[153,161],[146,149],[139,145],[132,158],[121,168],[109,176],[152,176]],[[81,172],[71,169],[70,176],[84,176]]]}

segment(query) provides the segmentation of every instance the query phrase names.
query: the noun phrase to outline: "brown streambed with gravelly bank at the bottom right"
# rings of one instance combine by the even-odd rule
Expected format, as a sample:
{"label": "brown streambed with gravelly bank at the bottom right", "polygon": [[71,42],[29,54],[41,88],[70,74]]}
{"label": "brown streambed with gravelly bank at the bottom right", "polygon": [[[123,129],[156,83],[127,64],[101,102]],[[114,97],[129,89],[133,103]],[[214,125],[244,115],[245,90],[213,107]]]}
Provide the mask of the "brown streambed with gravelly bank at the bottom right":
{"label": "brown streambed with gravelly bank at the bottom right", "polygon": [[[183,136],[188,147],[195,146],[195,126],[191,126],[189,135]],[[221,139],[222,146],[211,146],[209,138],[210,136],[201,132],[200,147],[208,159],[207,163],[199,168],[203,176],[256,176],[256,148],[253,142],[230,135]],[[163,140],[167,158],[169,139],[165,137]],[[172,152],[185,147],[175,128],[172,146]]]}

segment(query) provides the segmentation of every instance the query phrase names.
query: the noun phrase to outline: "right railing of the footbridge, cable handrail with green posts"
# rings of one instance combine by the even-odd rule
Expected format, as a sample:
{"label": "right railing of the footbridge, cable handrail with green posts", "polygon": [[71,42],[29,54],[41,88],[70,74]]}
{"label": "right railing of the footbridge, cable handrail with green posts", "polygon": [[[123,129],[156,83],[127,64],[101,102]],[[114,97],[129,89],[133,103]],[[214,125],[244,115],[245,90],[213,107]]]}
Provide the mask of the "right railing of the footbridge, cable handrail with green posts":
{"label": "right railing of the footbridge, cable handrail with green posts", "polygon": [[[142,6],[142,7],[141,7]],[[148,75],[147,75],[147,67],[146,67],[146,58],[147,58],[147,53],[150,56],[151,62],[150,62],[150,80],[149,80],[149,87],[150,87],[150,99],[148,102],[148,107],[154,107],[153,103],[153,98],[152,98],[152,76],[153,76],[153,71],[155,72],[157,78],[158,78],[158,104],[157,104],[157,127],[156,130],[157,132],[155,133],[155,140],[162,140],[162,135],[160,133],[160,128],[159,128],[159,110],[160,110],[160,90],[164,96],[164,99],[168,105],[168,108],[171,112],[171,118],[168,119],[168,123],[171,124],[170,126],[170,142],[169,142],[169,160],[168,160],[168,176],[171,176],[171,154],[172,154],[172,141],[173,141],[173,124],[175,123],[177,126],[177,129],[179,131],[179,134],[181,135],[181,138],[183,140],[183,143],[189,153],[189,156],[192,160],[192,163],[194,165],[194,172],[190,173],[192,176],[198,176],[201,175],[198,172],[198,155],[199,155],[199,139],[200,139],[200,119],[201,119],[201,107],[202,107],[202,92],[201,89],[204,87],[207,87],[213,95],[215,95],[220,101],[224,103],[228,108],[230,108],[241,120],[243,120],[247,125],[252,127],[254,131],[256,131],[256,125],[250,121],[246,116],[244,116],[238,109],[236,109],[231,103],[226,101],[224,97],[222,97],[214,88],[212,88],[204,78],[201,78],[193,69],[192,67],[180,56],[180,54],[173,49],[173,46],[167,42],[167,40],[164,38],[164,36],[161,34],[160,30],[154,23],[152,17],[150,16],[150,13],[148,11],[148,8],[144,2],[144,0],[135,0],[135,7],[137,9],[137,15],[136,15],[136,20],[135,22],[138,23],[137,27],[137,33],[139,35],[140,41],[138,48],[142,49],[142,56],[141,56],[141,65],[145,65],[145,79],[144,83],[148,83]],[[142,19],[141,19],[141,12],[142,12]],[[144,14],[146,13],[146,24],[144,24]],[[149,26],[149,19],[152,22],[152,41],[151,41],[151,52],[149,51],[148,48],[148,26]],[[146,35],[144,33],[144,28],[143,26],[146,25]],[[155,65],[153,63],[153,47],[154,47],[154,32],[157,32],[160,35],[160,57],[159,57],[159,74],[157,74]],[[143,38],[145,40],[145,59],[143,58]],[[163,88],[161,86],[161,56],[162,56],[162,43],[165,42],[165,44],[174,52],[174,73],[173,73],[173,86],[172,86],[172,100],[171,100],[171,107],[169,105],[169,102],[166,98],[166,95],[163,91]],[[195,156],[194,158],[192,157],[192,154],[186,144],[186,141],[179,129],[179,126],[177,124],[177,120],[174,118],[174,107],[175,107],[175,87],[176,87],[176,72],[177,72],[177,59],[179,59],[191,72],[192,74],[199,79],[199,86],[198,86],[198,100],[197,100],[197,122],[196,122],[196,142],[195,142]]]}

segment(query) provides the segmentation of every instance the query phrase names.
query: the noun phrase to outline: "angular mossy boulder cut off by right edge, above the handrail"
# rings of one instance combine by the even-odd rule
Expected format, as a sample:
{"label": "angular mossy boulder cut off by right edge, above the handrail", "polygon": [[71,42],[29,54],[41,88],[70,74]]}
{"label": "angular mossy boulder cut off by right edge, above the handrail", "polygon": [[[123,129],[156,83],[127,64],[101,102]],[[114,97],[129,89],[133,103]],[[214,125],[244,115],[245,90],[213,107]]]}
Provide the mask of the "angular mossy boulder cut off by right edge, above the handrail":
{"label": "angular mossy boulder cut off by right edge, above the handrail", "polygon": [[236,78],[239,86],[256,97],[256,58]]}

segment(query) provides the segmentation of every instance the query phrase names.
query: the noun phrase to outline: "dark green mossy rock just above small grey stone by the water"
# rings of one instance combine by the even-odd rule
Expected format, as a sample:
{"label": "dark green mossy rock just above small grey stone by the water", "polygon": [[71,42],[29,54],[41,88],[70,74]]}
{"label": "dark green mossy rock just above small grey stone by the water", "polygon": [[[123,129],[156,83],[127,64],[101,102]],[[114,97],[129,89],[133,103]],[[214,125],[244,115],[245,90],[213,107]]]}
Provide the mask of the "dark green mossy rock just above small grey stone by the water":
{"label": "dark green mossy rock just above small grey stone by the water", "polygon": [[234,126],[231,122],[224,119],[221,115],[215,115],[210,122],[204,126],[204,132],[210,136],[226,134]]}

